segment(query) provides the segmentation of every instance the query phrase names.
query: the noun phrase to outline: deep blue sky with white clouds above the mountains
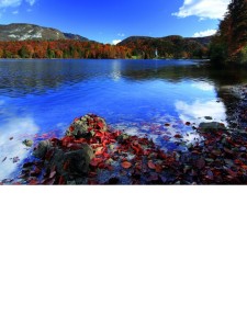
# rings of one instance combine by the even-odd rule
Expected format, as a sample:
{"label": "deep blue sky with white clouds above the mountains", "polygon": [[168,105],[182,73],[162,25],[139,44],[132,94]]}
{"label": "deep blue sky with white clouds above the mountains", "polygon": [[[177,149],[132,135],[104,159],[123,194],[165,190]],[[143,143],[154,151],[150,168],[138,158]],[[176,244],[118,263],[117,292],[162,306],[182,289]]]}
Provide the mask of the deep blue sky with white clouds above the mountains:
{"label": "deep blue sky with white clouds above the mountains", "polygon": [[0,0],[0,24],[33,23],[103,43],[132,35],[204,36],[229,0]]}

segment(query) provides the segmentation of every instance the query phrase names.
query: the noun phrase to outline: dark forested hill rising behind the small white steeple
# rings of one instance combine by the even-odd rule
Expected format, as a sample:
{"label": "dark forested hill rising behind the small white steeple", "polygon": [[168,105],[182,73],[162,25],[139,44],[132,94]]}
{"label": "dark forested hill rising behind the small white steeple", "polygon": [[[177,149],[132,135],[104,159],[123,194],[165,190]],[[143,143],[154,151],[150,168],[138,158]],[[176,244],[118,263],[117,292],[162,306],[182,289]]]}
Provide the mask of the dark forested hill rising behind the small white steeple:
{"label": "dark forested hill rising behind the small white steeple", "polygon": [[154,58],[156,56],[164,58],[203,58],[207,56],[211,39],[211,36],[131,36],[117,45],[133,49],[134,55],[142,58]]}

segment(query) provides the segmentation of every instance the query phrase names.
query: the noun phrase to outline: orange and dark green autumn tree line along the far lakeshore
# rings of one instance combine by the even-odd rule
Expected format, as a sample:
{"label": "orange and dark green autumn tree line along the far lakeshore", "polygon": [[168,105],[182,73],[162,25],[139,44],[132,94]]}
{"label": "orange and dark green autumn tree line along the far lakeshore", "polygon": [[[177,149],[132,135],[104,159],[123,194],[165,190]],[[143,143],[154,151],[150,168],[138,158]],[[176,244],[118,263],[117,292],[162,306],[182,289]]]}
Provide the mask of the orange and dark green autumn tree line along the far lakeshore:
{"label": "orange and dark green autumn tree line along the far lakeshore", "polygon": [[110,45],[80,41],[14,41],[0,42],[0,58],[202,58],[209,49],[182,37],[126,45]]}

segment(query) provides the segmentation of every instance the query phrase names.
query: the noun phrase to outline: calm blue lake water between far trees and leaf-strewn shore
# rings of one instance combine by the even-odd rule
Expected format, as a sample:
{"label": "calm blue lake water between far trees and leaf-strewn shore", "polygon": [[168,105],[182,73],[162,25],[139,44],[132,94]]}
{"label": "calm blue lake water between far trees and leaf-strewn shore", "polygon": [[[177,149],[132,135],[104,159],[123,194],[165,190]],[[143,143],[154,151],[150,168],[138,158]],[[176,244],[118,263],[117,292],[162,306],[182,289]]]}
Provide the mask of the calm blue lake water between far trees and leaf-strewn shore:
{"label": "calm blue lake water between far trees and leaf-strewn shore", "polygon": [[24,139],[63,136],[87,113],[165,149],[180,133],[186,146],[197,136],[184,122],[231,124],[218,90],[246,81],[199,60],[0,60],[0,180],[14,178],[30,156]]}

